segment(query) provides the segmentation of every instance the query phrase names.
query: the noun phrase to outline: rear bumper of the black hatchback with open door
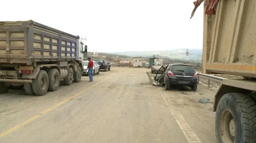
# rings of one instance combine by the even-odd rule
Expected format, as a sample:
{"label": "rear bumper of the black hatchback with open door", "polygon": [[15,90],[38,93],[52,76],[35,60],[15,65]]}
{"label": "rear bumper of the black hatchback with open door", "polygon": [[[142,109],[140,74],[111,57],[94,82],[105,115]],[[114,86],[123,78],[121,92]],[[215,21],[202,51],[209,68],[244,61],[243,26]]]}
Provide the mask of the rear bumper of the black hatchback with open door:
{"label": "rear bumper of the black hatchback with open door", "polygon": [[194,86],[198,83],[197,78],[191,78],[191,79],[178,79],[178,78],[168,78],[168,83],[170,85],[183,85],[187,87]]}

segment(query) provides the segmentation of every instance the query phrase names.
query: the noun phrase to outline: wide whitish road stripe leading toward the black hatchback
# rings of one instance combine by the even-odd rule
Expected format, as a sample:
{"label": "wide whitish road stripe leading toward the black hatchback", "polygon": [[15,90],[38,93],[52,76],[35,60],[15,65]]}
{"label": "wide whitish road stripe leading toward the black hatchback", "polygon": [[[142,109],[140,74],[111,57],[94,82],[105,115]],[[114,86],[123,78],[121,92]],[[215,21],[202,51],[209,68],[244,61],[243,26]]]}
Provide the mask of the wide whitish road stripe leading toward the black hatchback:
{"label": "wide whitish road stripe leading toward the black hatchback", "polygon": [[[201,142],[201,140],[198,138],[196,133],[191,129],[191,127],[188,125],[186,120],[182,117],[181,113],[177,110],[175,105],[172,101],[170,101],[169,97],[165,95],[165,97],[160,93],[163,97],[163,100],[165,101],[166,105],[169,107],[170,112],[172,112],[176,122],[180,126],[180,129],[182,130],[183,134],[187,138],[187,141],[189,143],[192,142]],[[202,142],[201,142],[202,143]]]}

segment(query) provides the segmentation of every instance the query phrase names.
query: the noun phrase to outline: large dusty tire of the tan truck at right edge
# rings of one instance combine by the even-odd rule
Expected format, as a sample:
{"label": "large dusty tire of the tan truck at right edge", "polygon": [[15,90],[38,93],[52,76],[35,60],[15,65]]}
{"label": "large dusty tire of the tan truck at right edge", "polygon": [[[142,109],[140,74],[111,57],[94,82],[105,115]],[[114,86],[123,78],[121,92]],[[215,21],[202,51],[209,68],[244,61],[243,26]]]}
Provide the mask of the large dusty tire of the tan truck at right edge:
{"label": "large dusty tire of the tan truck at right edge", "polygon": [[256,104],[248,95],[227,93],[219,101],[215,133],[218,143],[256,142]]}

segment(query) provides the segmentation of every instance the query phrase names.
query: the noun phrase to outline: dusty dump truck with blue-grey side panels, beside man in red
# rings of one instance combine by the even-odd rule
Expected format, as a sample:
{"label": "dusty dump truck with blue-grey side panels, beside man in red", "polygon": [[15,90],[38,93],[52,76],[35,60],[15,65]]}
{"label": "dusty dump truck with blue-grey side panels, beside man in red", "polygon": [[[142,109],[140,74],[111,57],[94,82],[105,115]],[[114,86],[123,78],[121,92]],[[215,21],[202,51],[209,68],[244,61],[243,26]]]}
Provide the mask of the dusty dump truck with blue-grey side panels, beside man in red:
{"label": "dusty dump truck with blue-grey side panels, beside man in red", "polygon": [[80,82],[83,54],[79,36],[33,20],[0,22],[0,93],[12,87],[42,96],[57,91],[62,79]]}

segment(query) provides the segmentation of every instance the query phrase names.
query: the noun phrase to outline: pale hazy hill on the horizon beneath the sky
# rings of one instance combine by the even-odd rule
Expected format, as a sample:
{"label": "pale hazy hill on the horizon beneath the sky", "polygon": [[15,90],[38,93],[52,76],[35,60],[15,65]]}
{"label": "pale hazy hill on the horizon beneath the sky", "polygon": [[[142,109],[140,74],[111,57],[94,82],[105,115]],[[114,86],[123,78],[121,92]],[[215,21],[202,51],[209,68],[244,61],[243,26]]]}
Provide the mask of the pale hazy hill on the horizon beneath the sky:
{"label": "pale hazy hill on the horizon beneath the sky", "polygon": [[[125,51],[125,52],[106,52],[109,54],[119,54],[126,56],[143,56],[151,58],[155,54],[157,58],[170,58],[170,59],[186,59],[186,48],[163,50],[163,51]],[[202,49],[188,49],[190,60],[202,60]]]}

